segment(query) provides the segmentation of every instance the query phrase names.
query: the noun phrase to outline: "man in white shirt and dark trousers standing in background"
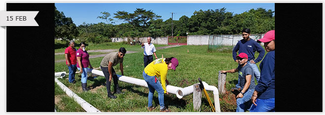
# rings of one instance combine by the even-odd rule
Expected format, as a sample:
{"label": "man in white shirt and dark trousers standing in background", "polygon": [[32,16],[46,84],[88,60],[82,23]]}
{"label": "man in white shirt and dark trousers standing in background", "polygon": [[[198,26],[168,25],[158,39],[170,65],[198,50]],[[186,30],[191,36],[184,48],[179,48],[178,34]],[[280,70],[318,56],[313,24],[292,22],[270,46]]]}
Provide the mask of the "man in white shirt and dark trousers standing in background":
{"label": "man in white shirt and dark trousers standing in background", "polygon": [[143,50],[144,67],[146,67],[150,62],[153,61],[152,54],[154,54],[156,59],[158,59],[157,55],[156,55],[155,45],[151,43],[151,38],[150,37],[147,38],[147,42],[148,43],[142,43],[141,44],[141,48],[142,49],[144,48],[144,50]]}

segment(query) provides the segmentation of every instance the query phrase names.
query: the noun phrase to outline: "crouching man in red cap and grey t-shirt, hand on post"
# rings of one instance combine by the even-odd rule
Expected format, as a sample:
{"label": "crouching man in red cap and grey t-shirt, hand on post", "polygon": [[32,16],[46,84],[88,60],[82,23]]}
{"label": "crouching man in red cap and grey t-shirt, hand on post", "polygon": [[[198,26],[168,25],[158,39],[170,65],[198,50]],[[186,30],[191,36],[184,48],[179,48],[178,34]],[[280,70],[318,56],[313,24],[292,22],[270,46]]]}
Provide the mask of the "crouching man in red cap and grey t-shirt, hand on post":
{"label": "crouching man in red cap and grey t-shirt, hand on post", "polygon": [[236,56],[238,60],[238,67],[236,69],[230,69],[227,71],[222,70],[221,73],[234,73],[238,72],[239,85],[242,89],[236,96],[237,109],[236,112],[245,112],[251,106],[251,97],[255,89],[254,72],[250,65],[247,64],[248,56],[245,53],[240,53]]}

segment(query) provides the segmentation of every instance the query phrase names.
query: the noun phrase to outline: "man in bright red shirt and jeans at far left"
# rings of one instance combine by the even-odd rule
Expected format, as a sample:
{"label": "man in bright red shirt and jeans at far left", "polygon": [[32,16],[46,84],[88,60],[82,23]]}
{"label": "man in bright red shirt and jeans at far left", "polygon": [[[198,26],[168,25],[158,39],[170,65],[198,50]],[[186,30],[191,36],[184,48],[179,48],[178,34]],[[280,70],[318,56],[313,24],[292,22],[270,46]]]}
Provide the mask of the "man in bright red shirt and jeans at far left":
{"label": "man in bright red shirt and jeans at far left", "polygon": [[65,64],[69,68],[69,83],[74,84],[74,76],[77,71],[77,58],[76,58],[77,49],[74,48],[74,41],[69,42],[69,47],[65,49]]}

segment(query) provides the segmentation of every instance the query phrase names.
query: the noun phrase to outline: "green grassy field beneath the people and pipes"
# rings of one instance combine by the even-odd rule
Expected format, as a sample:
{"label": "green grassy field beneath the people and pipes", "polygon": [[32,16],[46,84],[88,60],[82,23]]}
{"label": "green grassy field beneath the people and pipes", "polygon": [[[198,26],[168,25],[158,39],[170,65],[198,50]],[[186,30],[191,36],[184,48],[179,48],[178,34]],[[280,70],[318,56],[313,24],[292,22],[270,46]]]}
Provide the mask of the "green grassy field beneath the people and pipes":
{"label": "green grassy field beneath the people and pipes", "polygon": [[[119,48],[121,46],[112,46]],[[179,65],[176,71],[168,70],[167,79],[171,86],[186,87],[198,83],[197,78],[201,78],[202,81],[212,86],[218,86],[218,71],[228,70],[237,67],[232,59],[231,48],[223,48],[220,52],[207,52],[208,46],[179,46],[168,49],[157,50],[157,56],[161,58],[162,54],[164,58],[175,57],[179,60]],[[126,47],[127,50],[131,50],[132,47]],[[141,49],[141,48],[140,48]],[[189,50],[189,53],[187,51]],[[259,53],[256,53],[258,56]],[[99,67],[101,58],[91,58],[90,61],[94,68]],[[143,79],[142,71],[143,67],[143,53],[127,54],[124,57],[124,75]],[[260,65],[260,62],[257,63]],[[119,66],[114,67],[117,74],[121,74]],[[66,71],[68,69],[65,62],[55,63],[55,72]],[[105,78],[98,76],[97,78],[89,77],[87,80],[87,86],[91,88],[88,92],[82,92],[80,74],[76,74],[76,84],[69,84],[67,76],[63,79],[59,79],[65,86],[69,87],[78,96],[86,100],[88,103],[96,107],[101,112],[148,112],[146,109],[148,103],[148,88],[135,86],[124,82],[119,82],[119,85],[123,88],[125,94],[116,94],[117,99],[110,99],[107,97],[107,91],[105,84]],[[237,73],[227,74],[227,91],[231,87],[234,87],[237,83]],[[113,83],[112,83],[113,85]],[[113,90],[113,86],[111,86]],[[62,95],[59,88],[55,88],[55,96]],[[230,92],[230,91],[229,91]],[[214,103],[212,91],[208,91],[211,101]],[[64,97],[64,96],[63,96]],[[220,95],[220,105],[222,112],[235,112],[236,105],[233,103],[233,95],[227,93]],[[73,99],[72,99],[73,100]],[[62,103],[65,103],[61,101]],[[56,109],[60,112],[84,112],[84,110],[73,109],[79,108],[74,104],[66,102],[65,105],[60,106],[56,104]],[[178,99],[174,94],[168,94],[164,97],[164,103],[172,112],[195,112],[193,111],[193,95],[188,95],[182,99]],[[153,112],[159,112],[158,93],[154,94],[153,105],[158,107]],[[61,107],[61,109],[58,109]],[[209,103],[204,95],[202,95],[201,112],[211,112]]]}

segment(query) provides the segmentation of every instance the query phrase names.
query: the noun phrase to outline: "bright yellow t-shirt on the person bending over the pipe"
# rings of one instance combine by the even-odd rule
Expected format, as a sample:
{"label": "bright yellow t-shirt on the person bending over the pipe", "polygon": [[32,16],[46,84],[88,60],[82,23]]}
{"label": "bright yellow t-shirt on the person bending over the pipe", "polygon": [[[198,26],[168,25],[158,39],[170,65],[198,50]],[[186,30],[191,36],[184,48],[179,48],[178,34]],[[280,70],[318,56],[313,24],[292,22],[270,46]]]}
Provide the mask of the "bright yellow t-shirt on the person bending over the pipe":
{"label": "bright yellow t-shirt on the person bending over the pipe", "polygon": [[151,63],[149,63],[146,68],[144,68],[144,72],[149,76],[157,76],[160,77],[162,82],[162,89],[164,93],[166,93],[166,75],[168,72],[168,65],[165,63],[165,58],[159,58]]}

